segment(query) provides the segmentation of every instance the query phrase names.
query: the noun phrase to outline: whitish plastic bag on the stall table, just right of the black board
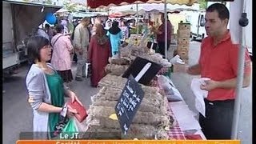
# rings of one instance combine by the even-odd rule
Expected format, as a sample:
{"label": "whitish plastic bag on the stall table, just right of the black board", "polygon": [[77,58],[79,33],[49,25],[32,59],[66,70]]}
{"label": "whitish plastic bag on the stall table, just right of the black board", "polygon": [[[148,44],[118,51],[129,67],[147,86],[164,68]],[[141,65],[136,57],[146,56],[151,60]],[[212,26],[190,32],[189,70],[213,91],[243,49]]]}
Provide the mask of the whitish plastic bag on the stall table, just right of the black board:
{"label": "whitish plastic bag on the stall table, just right of the black board", "polygon": [[178,89],[176,89],[174,83],[170,80],[170,78],[159,75],[158,84],[165,91],[166,97],[169,102],[183,101],[182,95],[179,93]]}

